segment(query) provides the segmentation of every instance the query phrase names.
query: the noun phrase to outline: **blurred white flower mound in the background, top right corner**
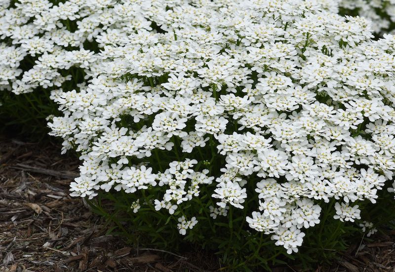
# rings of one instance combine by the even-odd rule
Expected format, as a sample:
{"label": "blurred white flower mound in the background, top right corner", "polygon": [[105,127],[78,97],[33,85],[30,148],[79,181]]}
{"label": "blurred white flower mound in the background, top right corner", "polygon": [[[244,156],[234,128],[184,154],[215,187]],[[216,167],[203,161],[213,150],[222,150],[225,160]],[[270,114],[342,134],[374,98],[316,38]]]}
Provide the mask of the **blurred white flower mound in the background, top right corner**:
{"label": "blurred white flower mound in the background, top right corner", "polygon": [[372,21],[372,29],[381,34],[395,29],[395,0],[340,0],[345,13],[355,13]]}

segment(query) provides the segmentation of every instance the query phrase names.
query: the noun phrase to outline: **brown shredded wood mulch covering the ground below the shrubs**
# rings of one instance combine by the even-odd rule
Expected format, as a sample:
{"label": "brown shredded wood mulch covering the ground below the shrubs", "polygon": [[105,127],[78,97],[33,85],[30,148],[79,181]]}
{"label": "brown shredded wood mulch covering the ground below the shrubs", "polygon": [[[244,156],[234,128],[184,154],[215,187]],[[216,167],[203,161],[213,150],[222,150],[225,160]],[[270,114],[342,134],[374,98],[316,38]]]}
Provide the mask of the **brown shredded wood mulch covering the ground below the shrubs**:
{"label": "brown shredded wood mulch covering the ground below the shrubs", "polygon": [[[68,195],[78,159],[59,154],[56,145],[0,137],[0,272],[220,270],[198,252],[175,256],[107,235],[111,226]],[[352,245],[339,262],[316,272],[395,272],[395,233],[374,239]]]}

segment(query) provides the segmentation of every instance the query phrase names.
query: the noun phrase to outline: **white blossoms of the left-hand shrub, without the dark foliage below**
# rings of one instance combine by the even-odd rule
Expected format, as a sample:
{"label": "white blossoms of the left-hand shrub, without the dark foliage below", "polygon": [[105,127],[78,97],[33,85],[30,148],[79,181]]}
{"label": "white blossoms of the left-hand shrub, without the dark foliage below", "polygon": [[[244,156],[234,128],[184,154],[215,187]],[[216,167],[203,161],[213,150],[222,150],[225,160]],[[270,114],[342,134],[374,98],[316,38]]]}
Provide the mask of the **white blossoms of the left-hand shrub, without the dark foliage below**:
{"label": "white blossoms of the left-hand shrub, without the dark foliage below", "polygon": [[[100,15],[105,16],[103,8],[111,4],[102,0],[70,0],[58,5],[48,0],[1,1],[0,89],[21,94],[38,87],[59,88],[67,80],[78,82],[73,77],[80,75],[74,75],[74,70],[61,74],[73,66],[83,69],[82,77],[95,75],[91,67],[100,63],[95,63],[89,41],[98,32]],[[81,17],[84,19],[73,24]]]}

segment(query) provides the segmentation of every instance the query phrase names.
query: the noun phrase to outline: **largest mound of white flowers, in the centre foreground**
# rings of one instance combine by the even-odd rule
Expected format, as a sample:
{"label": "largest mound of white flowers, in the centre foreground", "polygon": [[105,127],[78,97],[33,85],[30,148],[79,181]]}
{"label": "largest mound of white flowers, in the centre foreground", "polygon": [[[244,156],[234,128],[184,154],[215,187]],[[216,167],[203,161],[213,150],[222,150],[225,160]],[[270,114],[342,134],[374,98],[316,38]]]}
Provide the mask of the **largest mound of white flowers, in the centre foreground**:
{"label": "largest mound of white flowers, in the centre foreground", "polygon": [[199,224],[191,205],[212,220],[247,210],[288,253],[319,203],[359,223],[356,202],[374,203],[395,169],[395,38],[372,41],[368,21],[328,9],[124,0],[82,20],[88,36],[102,25],[97,76],[54,93],[64,116],[49,123],[83,160],[72,195],[124,192],[181,234]]}

